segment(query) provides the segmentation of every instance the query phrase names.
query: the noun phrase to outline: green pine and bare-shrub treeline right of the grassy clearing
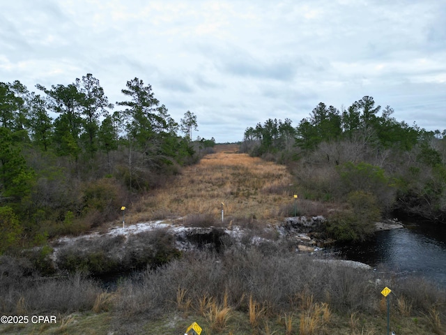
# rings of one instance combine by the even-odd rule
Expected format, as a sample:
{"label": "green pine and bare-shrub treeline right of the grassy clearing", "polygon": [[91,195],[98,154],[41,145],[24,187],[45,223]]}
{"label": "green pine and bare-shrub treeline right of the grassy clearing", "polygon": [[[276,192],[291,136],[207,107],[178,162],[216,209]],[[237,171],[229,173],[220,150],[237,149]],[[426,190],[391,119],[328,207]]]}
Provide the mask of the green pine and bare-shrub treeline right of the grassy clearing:
{"label": "green pine and bare-shrub treeline right of the grassy clearing", "polygon": [[288,164],[305,198],[348,204],[332,216],[338,237],[362,237],[370,225],[355,234],[354,222],[392,211],[445,222],[446,131],[409,126],[393,113],[370,96],[342,110],[319,103],[298,126],[286,118],[247,128],[241,149]]}

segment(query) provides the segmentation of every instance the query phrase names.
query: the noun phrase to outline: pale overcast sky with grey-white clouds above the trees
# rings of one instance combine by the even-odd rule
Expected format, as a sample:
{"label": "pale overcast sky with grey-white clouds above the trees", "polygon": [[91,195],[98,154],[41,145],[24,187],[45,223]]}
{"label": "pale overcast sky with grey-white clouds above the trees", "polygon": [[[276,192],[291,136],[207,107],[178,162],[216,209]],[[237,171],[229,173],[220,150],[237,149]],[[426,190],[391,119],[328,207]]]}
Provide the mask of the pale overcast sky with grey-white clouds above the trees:
{"label": "pale overcast sky with grey-white clouds above the trees", "polygon": [[43,94],[91,73],[116,103],[138,77],[217,142],[363,96],[443,131],[445,17],[446,0],[2,0],[0,82]]}

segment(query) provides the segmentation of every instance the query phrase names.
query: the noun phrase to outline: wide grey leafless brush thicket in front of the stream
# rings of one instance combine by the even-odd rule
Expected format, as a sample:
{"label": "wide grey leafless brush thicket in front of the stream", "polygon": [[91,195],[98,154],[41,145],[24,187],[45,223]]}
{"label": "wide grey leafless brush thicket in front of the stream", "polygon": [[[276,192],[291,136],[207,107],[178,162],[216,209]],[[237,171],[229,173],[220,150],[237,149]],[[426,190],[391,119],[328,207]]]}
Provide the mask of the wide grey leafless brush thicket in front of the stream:
{"label": "wide grey leafless brush thicket in front of the stream", "polygon": [[203,297],[216,304],[248,311],[247,297],[262,301],[268,313],[295,311],[302,294],[314,303],[325,302],[339,311],[374,311],[378,300],[373,272],[315,262],[284,248],[230,248],[215,253],[189,253],[156,271],[146,271],[136,281],[127,281],[118,290],[117,311],[162,315],[176,301],[199,308]]}

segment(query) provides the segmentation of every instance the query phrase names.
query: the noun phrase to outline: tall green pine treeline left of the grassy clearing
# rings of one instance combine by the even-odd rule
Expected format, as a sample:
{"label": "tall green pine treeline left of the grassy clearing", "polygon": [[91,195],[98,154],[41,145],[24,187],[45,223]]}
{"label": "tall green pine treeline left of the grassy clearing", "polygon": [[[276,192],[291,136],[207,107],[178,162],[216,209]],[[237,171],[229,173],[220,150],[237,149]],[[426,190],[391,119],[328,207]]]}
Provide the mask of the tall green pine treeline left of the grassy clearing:
{"label": "tall green pine treeline left of the grassy clearing", "polygon": [[91,73],[36,88],[0,82],[0,253],[116,218],[215,144],[192,141],[197,117],[176,122],[136,77],[116,107]]}

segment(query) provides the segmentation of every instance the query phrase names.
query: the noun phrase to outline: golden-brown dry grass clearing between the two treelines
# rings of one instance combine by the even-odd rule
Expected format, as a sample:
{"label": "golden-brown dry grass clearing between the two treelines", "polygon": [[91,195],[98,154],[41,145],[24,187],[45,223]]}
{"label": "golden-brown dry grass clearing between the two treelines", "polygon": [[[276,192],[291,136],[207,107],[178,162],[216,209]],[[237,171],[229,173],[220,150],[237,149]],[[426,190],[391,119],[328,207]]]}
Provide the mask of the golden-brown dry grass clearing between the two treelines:
{"label": "golden-brown dry grass clearing between the two treelines", "polygon": [[[235,147],[187,167],[165,188],[134,204],[128,223],[206,214],[221,220],[222,202],[228,223],[232,216],[275,220],[277,209],[293,202],[291,174],[284,165],[237,154]],[[224,151],[226,150],[226,151]]]}

